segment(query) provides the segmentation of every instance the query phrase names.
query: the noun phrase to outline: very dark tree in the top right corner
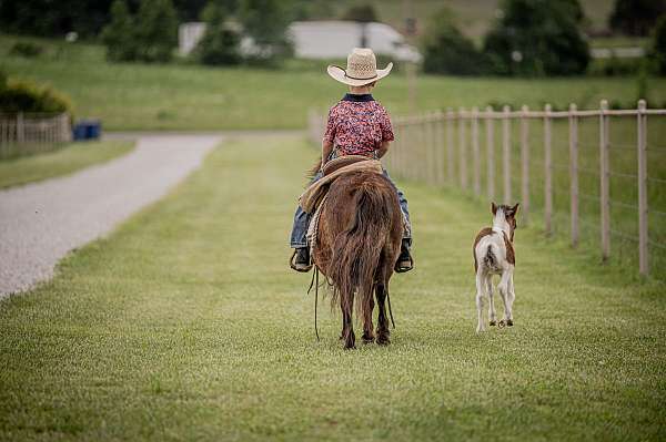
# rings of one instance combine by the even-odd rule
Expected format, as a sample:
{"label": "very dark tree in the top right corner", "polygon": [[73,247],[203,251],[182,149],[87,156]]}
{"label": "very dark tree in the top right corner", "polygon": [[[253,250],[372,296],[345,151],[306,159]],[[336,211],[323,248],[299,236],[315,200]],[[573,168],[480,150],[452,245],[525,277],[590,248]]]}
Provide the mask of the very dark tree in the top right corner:
{"label": "very dark tree in the top right corner", "polygon": [[628,35],[648,35],[657,18],[666,13],[666,0],[615,0],[610,29]]}

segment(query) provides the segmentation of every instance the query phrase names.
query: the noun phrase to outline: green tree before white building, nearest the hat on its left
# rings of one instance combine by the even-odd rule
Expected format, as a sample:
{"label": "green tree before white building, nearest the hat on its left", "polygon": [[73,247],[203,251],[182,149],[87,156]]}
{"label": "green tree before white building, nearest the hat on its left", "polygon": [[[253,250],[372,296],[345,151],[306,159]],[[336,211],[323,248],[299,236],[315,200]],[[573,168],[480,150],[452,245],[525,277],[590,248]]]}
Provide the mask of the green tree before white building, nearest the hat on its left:
{"label": "green tree before white building, nearest the hat on its left", "polygon": [[286,34],[291,21],[284,2],[279,0],[243,0],[240,19],[254,48],[249,62],[276,64],[291,55],[292,45]]}

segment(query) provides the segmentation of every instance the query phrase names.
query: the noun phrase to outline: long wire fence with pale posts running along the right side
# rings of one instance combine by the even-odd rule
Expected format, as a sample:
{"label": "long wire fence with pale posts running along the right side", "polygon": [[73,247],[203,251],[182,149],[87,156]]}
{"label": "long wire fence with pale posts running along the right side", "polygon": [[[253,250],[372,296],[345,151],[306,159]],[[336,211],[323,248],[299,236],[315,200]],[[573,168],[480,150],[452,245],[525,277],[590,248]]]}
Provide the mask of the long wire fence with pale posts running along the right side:
{"label": "long wire fence with pale posts running along the right side", "polygon": [[[523,224],[543,223],[574,247],[595,244],[603,260],[635,255],[642,275],[666,264],[666,110],[602,101],[597,110],[448,109],[393,123],[392,175],[519,201]],[[324,124],[310,113],[313,140]]]}

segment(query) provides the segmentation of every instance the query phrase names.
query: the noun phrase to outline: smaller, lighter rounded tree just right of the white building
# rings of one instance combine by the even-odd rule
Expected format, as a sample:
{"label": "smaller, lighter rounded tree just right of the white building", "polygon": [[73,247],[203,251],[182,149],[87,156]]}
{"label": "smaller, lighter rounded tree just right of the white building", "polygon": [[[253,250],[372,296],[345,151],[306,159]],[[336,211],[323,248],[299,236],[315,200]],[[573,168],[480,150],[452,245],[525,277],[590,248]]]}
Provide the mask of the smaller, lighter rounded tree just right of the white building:
{"label": "smaller, lighter rounded tree just right of the white building", "polygon": [[487,73],[485,54],[463,35],[454,22],[448,9],[442,9],[432,18],[423,40],[423,70],[451,75]]}

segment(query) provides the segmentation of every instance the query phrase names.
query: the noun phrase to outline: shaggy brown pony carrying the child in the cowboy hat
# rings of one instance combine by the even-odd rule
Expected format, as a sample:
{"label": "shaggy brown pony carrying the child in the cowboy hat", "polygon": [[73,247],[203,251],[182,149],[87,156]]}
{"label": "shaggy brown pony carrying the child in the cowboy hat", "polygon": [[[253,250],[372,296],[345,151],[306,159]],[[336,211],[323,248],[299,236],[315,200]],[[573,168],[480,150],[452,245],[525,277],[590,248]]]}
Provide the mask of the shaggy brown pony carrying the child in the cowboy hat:
{"label": "shaggy brown pony carrying the child in the cowboy hat", "polygon": [[319,222],[313,260],[333,286],[331,307],[340,302],[345,349],[355,348],[354,298],[356,316],[363,318],[363,341],[374,340],[373,291],[380,308],[376,342],[391,342],[384,301],[402,235],[397,194],[386,177],[355,172],[331,184]]}

